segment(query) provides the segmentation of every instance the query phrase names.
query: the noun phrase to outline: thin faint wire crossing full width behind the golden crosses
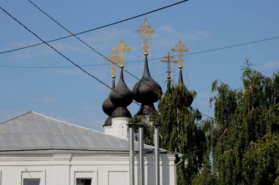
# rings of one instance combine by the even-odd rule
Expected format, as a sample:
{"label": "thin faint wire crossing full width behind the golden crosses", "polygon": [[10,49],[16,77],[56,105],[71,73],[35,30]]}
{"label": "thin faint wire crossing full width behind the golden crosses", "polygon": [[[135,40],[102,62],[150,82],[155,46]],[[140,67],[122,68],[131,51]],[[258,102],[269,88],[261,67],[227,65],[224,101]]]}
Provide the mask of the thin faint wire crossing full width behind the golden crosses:
{"label": "thin faint wire crossing full width behind the golden crosses", "polygon": [[[265,42],[265,41],[269,41],[269,40],[274,40],[274,39],[278,39],[279,36],[276,37],[272,37],[272,38],[265,38],[262,40],[253,40],[250,42],[243,42],[237,45],[229,45],[229,46],[225,46],[225,47],[217,47],[217,48],[213,48],[213,49],[206,49],[206,50],[202,50],[202,51],[195,51],[192,53],[188,53],[188,54],[183,54],[183,56],[187,56],[187,55],[194,55],[194,54],[202,54],[202,53],[208,53],[211,51],[218,51],[218,50],[222,50],[222,49],[229,49],[232,47],[241,47],[243,45],[252,45],[258,42]],[[164,57],[158,57],[158,58],[150,58],[149,61],[157,61],[160,59],[163,59]],[[126,63],[137,63],[137,62],[142,62],[144,60],[137,60],[137,61],[127,61]],[[100,65],[110,65],[110,64],[93,64],[93,65],[80,65],[82,67],[93,67],[93,66],[100,66]],[[12,66],[12,65],[0,65],[0,67],[7,67],[7,68],[66,68],[66,67],[75,67],[74,65],[68,65],[68,66]]]}

